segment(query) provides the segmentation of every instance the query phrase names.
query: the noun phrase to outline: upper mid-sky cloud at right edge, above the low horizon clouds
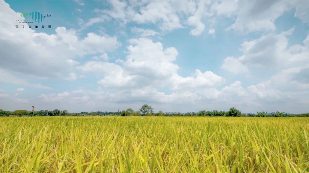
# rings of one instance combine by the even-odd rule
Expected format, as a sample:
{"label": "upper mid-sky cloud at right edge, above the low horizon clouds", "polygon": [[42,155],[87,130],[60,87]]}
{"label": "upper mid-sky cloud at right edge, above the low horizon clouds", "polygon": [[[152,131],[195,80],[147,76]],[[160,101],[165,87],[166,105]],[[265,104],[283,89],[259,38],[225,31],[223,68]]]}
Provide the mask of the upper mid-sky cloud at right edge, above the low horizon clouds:
{"label": "upper mid-sky cloud at right edge, above the low horizon clouds", "polygon": [[287,36],[293,31],[294,27],[277,35],[262,35],[258,39],[243,42],[239,49],[243,55],[225,58],[221,68],[241,74],[249,72],[249,66],[270,71],[274,69],[272,66],[288,68],[309,63],[308,36],[303,41],[304,46],[297,44],[289,47]]}

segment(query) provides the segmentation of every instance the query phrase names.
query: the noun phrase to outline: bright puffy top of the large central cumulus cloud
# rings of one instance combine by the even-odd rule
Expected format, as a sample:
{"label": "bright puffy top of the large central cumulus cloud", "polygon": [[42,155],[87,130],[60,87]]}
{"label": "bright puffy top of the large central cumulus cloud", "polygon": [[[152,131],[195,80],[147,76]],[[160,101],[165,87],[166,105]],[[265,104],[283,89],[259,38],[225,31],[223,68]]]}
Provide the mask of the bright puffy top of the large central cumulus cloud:
{"label": "bright puffy top of the large central cumulus cloud", "polygon": [[163,49],[160,42],[139,38],[129,40],[128,55],[124,68],[128,74],[137,74],[147,78],[162,79],[170,76],[179,69],[173,63],[178,51],[174,47]]}

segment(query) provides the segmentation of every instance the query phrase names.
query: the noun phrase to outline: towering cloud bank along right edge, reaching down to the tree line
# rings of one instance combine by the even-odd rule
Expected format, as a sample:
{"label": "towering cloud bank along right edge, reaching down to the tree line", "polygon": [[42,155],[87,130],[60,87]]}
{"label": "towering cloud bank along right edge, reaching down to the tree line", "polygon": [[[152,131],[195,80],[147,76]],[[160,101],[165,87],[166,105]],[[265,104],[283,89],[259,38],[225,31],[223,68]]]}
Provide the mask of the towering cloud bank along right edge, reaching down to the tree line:
{"label": "towering cloud bank along right edge, reaching down to the tree line", "polygon": [[[304,110],[309,96],[309,45],[307,38],[303,45],[290,45],[287,36],[294,28],[280,34],[265,34],[260,38],[245,41],[239,58],[227,57],[222,69],[234,74],[263,70],[267,80],[245,88],[244,99],[255,103],[256,107],[277,107],[283,111]],[[249,68],[250,67],[250,68]],[[249,70],[250,69],[250,70]],[[256,70],[257,69],[257,70]],[[226,87],[222,89],[226,90]],[[243,91],[243,89],[241,89]],[[269,105],[269,104],[270,105]]]}

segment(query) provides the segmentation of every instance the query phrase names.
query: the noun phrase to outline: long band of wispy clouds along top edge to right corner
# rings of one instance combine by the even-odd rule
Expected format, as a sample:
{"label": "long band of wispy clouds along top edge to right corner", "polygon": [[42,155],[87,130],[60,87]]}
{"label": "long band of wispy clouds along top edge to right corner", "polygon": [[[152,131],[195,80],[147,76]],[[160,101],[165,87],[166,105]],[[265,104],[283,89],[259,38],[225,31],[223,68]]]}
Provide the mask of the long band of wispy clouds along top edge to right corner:
{"label": "long band of wispy clouds along top edge to right corner", "polygon": [[[95,18],[86,23],[91,26],[97,22],[104,22],[107,16],[125,25],[128,22],[138,24],[156,24],[163,31],[184,28],[184,25],[194,26],[191,35],[200,35],[205,30],[204,21],[215,22],[221,16],[235,20],[227,30],[240,32],[273,31],[274,22],[284,12],[295,8],[294,17],[303,23],[309,22],[307,13],[309,3],[306,0],[220,0],[220,1],[120,1],[108,0],[109,9],[95,9]],[[186,21],[186,22],[182,22]]]}

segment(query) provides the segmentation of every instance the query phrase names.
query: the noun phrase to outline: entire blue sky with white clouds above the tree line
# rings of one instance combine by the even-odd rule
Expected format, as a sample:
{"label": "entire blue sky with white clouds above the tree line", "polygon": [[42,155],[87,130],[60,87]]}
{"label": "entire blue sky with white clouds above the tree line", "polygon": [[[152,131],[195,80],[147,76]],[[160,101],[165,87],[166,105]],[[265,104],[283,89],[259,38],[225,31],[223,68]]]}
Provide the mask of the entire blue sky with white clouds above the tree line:
{"label": "entire blue sky with white clouds above the tree line", "polygon": [[0,0],[3,110],[305,113],[308,98],[308,0]]}

